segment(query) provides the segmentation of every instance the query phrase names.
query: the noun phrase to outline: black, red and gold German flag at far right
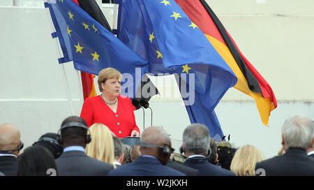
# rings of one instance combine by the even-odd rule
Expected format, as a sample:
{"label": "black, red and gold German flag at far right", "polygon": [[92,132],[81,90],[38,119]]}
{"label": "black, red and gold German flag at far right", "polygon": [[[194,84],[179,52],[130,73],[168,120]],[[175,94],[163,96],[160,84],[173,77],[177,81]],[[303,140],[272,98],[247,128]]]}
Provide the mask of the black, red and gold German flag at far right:
{"label": "black, red and gold German flag at far right", "polygon": [[232,37],[205,0],[175,0],[190,20],[207,36],[207,39],[237,76],[234,88],[255,99],[264,125],[277,107],[273,90],[262,75],[244,57]]}

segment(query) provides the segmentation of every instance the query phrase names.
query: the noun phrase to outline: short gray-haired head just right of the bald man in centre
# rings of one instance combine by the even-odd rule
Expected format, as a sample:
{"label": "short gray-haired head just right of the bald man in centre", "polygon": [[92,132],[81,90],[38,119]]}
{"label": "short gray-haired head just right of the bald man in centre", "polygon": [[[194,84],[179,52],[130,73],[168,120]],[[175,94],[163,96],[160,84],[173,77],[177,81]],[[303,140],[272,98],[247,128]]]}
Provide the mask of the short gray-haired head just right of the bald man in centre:
{"label": "short gray-haired head just right of the bald man in centre", "polygon": [[210,133],[204,124],[191,124],[184,130],[183,144],[188,154],[207,154]]}

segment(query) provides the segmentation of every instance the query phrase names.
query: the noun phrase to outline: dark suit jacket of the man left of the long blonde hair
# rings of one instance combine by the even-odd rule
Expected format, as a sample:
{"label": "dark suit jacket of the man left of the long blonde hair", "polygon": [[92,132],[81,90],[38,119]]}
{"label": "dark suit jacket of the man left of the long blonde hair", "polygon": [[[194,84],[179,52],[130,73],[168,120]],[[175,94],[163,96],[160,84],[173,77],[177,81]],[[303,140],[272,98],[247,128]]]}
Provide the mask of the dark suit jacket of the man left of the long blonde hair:
{"label": "dark suit jacket of the man left of the long blonde hair", "polygon": [[76,150],[63,152],[56,163],[59,175],[63,176],[105,176],[113,169],[110,163],[98,161]]}

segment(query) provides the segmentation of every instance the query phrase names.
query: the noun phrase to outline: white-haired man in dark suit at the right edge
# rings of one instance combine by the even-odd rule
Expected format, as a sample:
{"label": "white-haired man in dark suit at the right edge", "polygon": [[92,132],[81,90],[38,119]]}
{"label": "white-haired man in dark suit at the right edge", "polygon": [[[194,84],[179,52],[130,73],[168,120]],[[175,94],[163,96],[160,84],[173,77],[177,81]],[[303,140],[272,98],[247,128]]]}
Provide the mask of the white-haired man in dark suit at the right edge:
{"label": "white-haired man in dark suit at the right edge", "polygon": [[285,154],[257,163],[255,170],[267,176],[314,176],[314,159],[306,154],[313,147],[313,133],[312,119],[301,116],[286,119],[281,129]]}

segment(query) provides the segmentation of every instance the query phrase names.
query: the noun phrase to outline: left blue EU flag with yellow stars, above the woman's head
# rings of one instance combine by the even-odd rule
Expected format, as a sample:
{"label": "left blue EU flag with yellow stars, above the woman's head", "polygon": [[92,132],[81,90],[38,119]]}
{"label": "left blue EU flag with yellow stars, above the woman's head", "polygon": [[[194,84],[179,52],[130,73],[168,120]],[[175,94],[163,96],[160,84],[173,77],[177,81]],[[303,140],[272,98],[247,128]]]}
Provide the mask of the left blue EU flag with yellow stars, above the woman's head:
{"label": "left blue EU flag with yellow stars, above the woman's head", "polygon": [[[52,38],[59,38],[63,52],[59,64],[73,61],[75,69],[94,75],[98,75],[103,68],[112,67],[122,74],[132,75],[133,81],[142,78],[148,66],[147,61],[130,50],[76,3],[49,0],[45,7],[49,8],[56,29]],[[135,96],[140,85],[140,80],[136,84],[133,81],[128,81],[129,85],[126,87],[132,88],[130,98]]]}

